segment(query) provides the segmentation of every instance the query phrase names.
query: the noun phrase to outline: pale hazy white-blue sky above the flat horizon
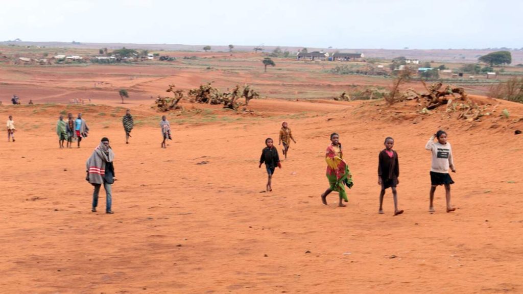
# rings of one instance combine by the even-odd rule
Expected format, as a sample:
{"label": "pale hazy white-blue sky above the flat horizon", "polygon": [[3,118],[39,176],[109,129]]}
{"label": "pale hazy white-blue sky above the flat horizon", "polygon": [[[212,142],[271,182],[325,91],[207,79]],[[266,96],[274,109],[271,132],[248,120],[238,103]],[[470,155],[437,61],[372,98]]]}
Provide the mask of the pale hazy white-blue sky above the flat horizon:
{"label": "pale hazy white-blue sky above the flat horizon", "polygon": [[519,0],[0,0],[0,41],[523,47]]}

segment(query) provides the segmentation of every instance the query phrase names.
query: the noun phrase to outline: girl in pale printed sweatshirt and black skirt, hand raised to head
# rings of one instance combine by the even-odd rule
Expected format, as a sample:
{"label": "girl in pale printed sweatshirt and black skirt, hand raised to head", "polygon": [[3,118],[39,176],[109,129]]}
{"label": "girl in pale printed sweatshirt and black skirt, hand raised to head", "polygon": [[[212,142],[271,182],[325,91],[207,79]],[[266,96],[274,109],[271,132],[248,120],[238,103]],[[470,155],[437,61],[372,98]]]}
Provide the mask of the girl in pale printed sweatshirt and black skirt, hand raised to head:
{"label": "girl in pale printed sweatshirt and black skirt, hand raised to head", "polygon": [[[434,139],[438,139],[434,142]],[[425,145],[425,149],[432,152],[432,166],[430,168],[430,205],[429,212],[434,212],[434,192],[436,187],[445,185],[445,197],[447,199],[447,212],[456,210],[450,205],[450,185],[454,184],[454,181],[449,175],[449,167],[453,173],[456,173],[454,168],[454,161],[452,159],[452,148],[450,143],[447,142],[447,133],[439,130],[436,134],[432,135]]]}

